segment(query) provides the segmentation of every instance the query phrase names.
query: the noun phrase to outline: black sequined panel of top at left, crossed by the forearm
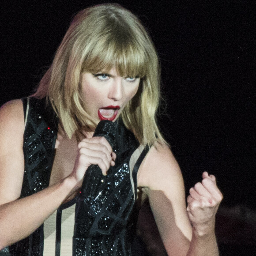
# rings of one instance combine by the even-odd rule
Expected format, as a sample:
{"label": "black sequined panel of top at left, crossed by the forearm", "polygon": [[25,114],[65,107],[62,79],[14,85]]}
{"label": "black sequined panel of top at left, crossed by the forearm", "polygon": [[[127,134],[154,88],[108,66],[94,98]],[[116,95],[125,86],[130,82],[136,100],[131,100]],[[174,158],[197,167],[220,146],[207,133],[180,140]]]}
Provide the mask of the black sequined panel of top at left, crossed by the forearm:
{"label": "black sequined panel of top at left, crossed by the forearm", "polygon": [[[26,102],[27,98],[24,98],[25,110]],[[45,99],[30,98],[23,142],[25,171],[21,198],[49,186],[57,127],[56,115],[51,108],[46,107]],[[42,255],[43,225],[29,237],[9,246],[9,251],[11,256]]]}

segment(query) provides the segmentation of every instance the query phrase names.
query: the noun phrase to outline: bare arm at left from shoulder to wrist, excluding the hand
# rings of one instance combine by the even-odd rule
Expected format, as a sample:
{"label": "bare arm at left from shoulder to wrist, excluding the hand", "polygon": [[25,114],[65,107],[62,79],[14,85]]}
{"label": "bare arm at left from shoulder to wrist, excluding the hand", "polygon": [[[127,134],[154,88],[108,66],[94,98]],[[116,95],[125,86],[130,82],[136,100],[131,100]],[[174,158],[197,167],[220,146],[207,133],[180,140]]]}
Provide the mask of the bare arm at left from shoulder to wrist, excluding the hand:
{"label": "bare arm at left from shoulder to wrist, excluding the hand", "polygon": [[0,109],[0,248],[36,230],[62,203],[74,183],[61,181],[32,196],[17,200],[24,173],[24,115],[21,100]]}

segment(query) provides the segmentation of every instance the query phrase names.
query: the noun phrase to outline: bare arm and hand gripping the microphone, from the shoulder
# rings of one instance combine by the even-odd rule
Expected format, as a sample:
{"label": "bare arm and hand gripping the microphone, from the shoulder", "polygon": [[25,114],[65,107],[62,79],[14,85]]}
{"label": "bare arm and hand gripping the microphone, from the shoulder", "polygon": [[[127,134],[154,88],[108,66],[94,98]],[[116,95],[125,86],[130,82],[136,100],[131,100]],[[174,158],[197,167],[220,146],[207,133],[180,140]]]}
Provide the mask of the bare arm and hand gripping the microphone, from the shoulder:
{"label": "bare arm and hand gripping the microphone, from the shoulder", "polygon": [[[32,196],[19,199],[24,173],[24,115],[21,100],[0,109],[0,249],[27,237],[69,196],[77,191],[88,166],[98,164],[105,173],[112,152],[104,138],[85,139],[78,146],[71,174]],[[93,153],[91,154],[93,148]],[[94,157],[94,155],[97,157]]]}

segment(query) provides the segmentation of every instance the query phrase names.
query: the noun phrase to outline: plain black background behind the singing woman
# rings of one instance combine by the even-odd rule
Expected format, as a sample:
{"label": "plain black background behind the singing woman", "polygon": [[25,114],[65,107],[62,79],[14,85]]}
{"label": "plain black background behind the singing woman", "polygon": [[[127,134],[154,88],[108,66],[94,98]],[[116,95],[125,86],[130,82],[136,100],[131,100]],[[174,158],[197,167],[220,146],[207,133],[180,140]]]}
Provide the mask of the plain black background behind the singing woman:
{"label": "plain black background behind the singing woman", "polygon": [[[72,16],[103,2],[1,1],[0,104],[31,94]],[[159,124],[181,166],[186,192],[203,171],[214,174],[224,195],[216,230],[222,253],[254,255],[254,1],[109,2],[138,15],[156,45],[166,101]]]}

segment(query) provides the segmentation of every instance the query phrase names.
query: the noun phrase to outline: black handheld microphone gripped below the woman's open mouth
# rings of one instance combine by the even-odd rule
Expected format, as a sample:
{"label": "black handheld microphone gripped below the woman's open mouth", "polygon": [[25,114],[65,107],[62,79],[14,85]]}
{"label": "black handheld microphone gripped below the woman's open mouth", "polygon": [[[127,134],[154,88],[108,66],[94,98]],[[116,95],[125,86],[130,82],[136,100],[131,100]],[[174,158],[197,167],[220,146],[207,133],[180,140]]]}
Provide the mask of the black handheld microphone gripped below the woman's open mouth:
{"label": "black handheld microphone gripped below the woman's open mouth", "polygon": [[[98,123],[93,137],[104,137],[113,148],[116,136],[116,124],[109,120],[102,120]],[[98,165],[91,165],[85,172],[81,188],[82,197],[95,198],[99,185],[104,181],[102,170]]]}

